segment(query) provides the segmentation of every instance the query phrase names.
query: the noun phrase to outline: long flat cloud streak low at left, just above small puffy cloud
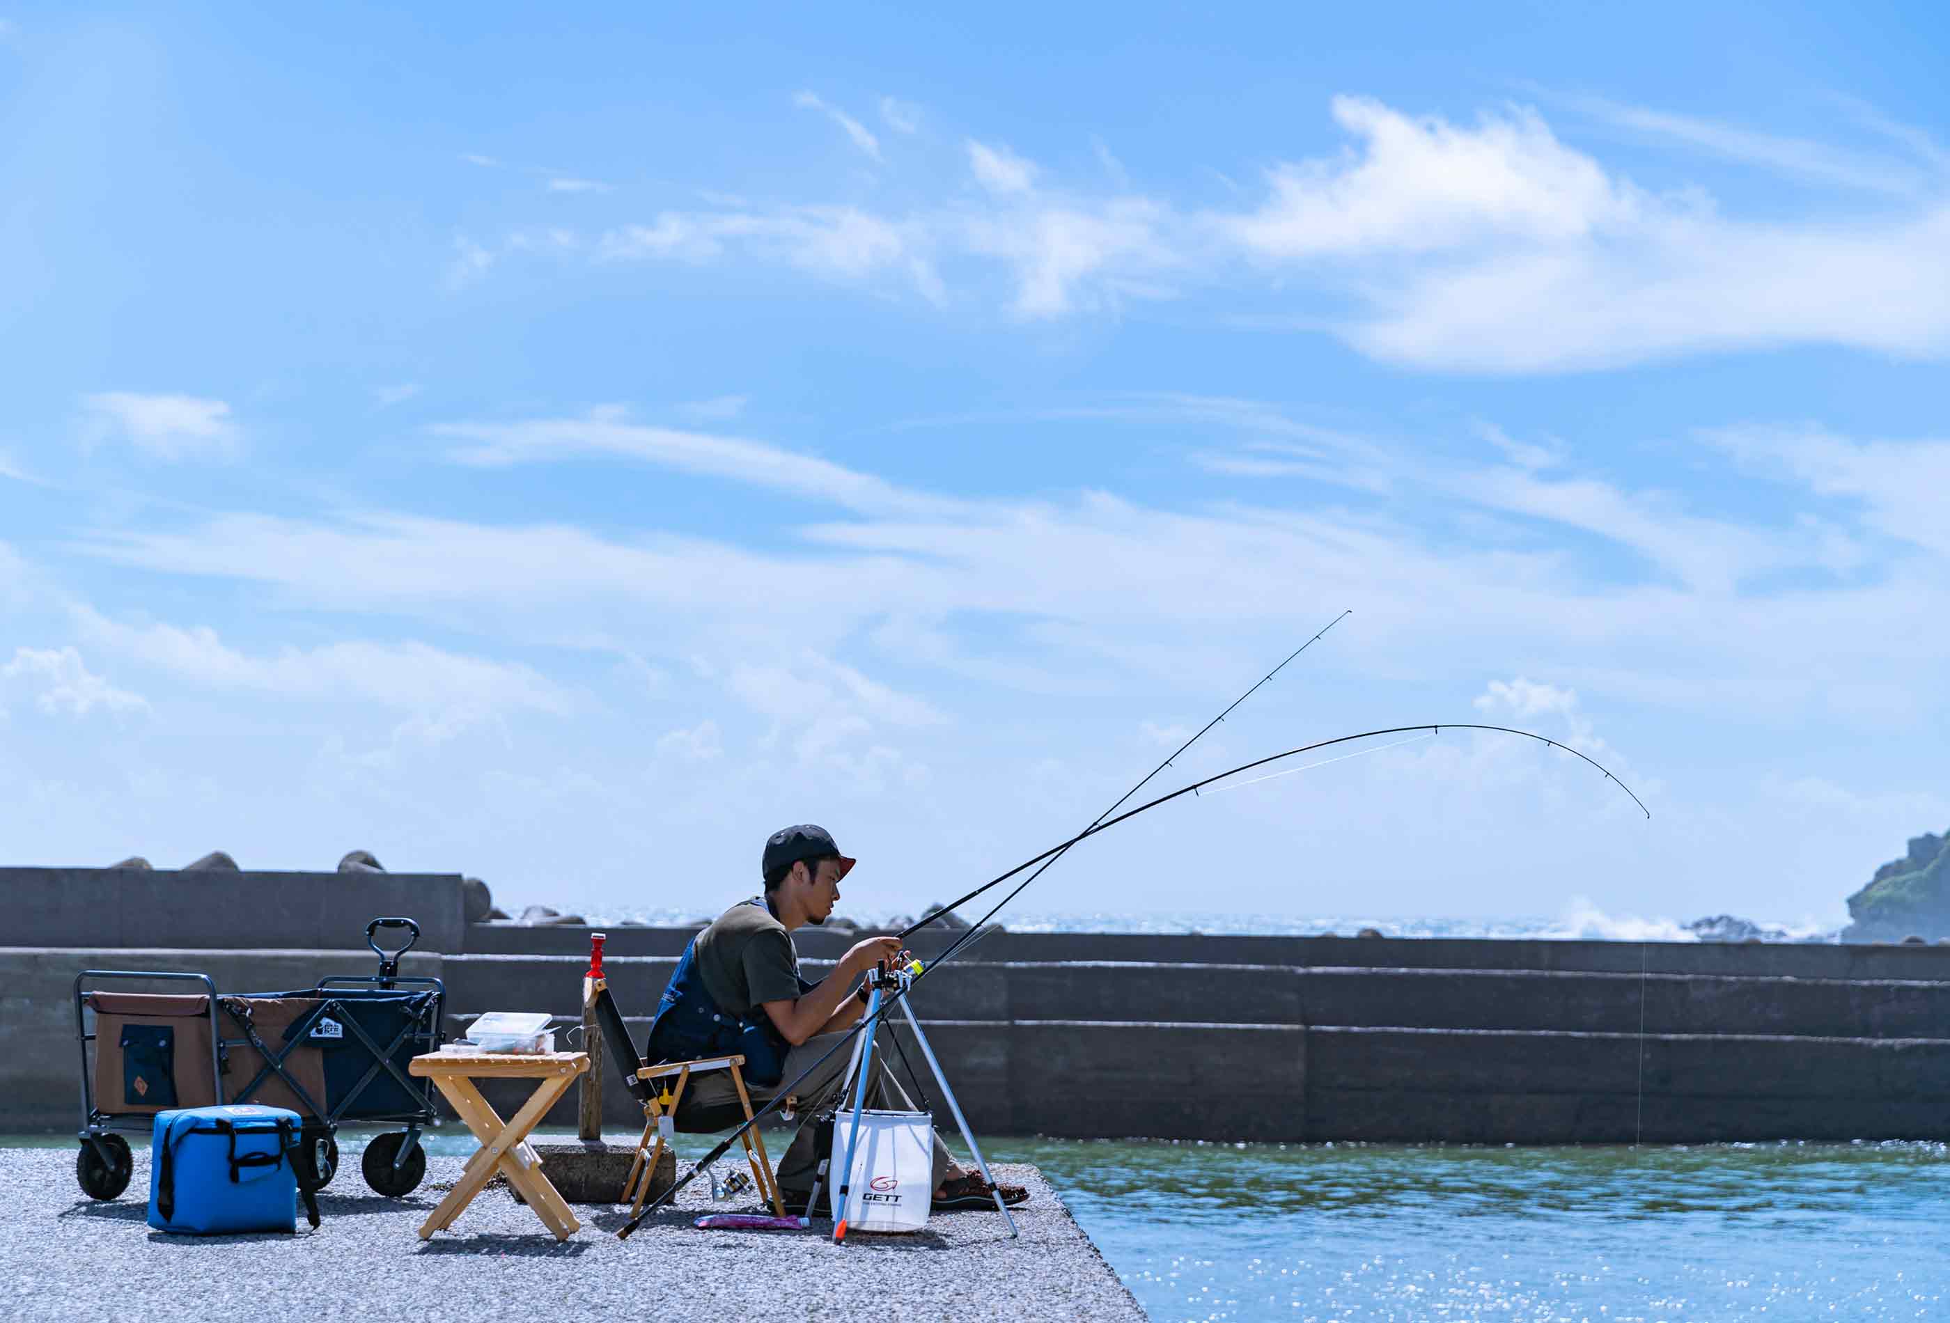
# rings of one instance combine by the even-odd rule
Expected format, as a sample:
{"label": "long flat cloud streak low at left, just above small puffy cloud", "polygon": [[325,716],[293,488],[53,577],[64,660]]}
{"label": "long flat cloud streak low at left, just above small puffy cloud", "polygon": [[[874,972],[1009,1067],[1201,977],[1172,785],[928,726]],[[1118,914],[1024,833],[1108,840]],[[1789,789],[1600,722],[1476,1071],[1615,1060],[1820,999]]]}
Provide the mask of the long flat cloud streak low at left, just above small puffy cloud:
{"label": "long flat cloud streak low at left, just above small puffy cloud", "polygon": [[213,690],[427,711],[566,713],[571,707],[569,696],[530,666],[462,657],[425,643],[349,641],[252,657],[224,645],[205,625],[125,625],[90,608],[78,608],[76,622],[94,643]]}

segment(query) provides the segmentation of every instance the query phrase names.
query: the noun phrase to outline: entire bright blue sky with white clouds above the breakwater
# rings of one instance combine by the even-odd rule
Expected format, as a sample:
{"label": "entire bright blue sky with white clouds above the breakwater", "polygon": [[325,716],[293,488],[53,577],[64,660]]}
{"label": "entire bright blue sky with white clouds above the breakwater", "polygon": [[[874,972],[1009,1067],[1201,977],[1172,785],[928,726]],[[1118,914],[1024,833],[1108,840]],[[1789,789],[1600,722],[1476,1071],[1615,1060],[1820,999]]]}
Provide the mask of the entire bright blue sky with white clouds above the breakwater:
{"label": "entire bright blue sky with white clouds above the breakwater", "polygon": [[[1839,922],[1950,822],[1929,6],[0,8],[10,861]],[[1168,781],[1166,781],[1168,783]]]}

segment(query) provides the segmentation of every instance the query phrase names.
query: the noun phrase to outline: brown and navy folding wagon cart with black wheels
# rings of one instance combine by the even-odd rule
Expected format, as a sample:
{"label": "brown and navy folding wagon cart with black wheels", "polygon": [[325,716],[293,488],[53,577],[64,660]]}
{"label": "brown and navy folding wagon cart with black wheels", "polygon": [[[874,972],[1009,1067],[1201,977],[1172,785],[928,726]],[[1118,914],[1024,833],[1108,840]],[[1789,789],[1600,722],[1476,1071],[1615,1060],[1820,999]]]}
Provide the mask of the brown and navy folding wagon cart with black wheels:
{"label": "brown and navy folding wagon cart with black wheels", "polygon": [[[408,931],[396,951],[382,927]],[[419,1132],[439,1124],[435,1093],[408,1062],[441,1046],[447,986],[400,972],[419,941],[410,918],[367,924],[378,974],[332,974],[296,992],[222,996],[189,970],[82,970],[74,1033],[82,1054],[82,1130],[74,1171],[90,1198],[129,1189],[135,1159],[117,1130],[146,1132],[174,1107],[263,1103],[304,1118],[298,1181],[320,1191],[337,1175],[341,1124],[404,1126],[367,1144],[361,1169],[374,1192],[400,1198],[427,1175]],[[103,980],[160,978],[201,992],[107,992]],[[88,1013],[94,1011],[90,1031]],[[94,1042],[94,1060],[88,1044]]]}

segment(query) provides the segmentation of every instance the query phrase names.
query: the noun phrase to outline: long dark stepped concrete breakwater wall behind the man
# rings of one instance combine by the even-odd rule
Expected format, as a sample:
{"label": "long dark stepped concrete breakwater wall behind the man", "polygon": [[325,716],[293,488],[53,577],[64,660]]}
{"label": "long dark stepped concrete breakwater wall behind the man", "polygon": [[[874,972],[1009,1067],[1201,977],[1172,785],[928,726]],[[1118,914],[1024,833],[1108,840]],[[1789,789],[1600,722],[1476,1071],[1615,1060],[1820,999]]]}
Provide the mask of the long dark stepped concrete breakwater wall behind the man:
{"label": "long dark stepped concrete breakwater wall behind the man", "polygon": [[[458,879],[427,887],[447,881],[458,906]],[[236,992],[370,972],[353,949],[365,920],[415,908],[369,904],[367,885],[312,879],[347,910],[333,951],[0,949],[0,1130],[76,1122],[80,968],[205,968]],[[324,902],[306,904],[320,922]],[[642,1033],[694,929],[606,931],[610,986]],[[488,1009],[567,1023],[587,933],[458,926],[456,949],[423,941],[406,972],[447,982],[452,1033]],[[800,933],[807,974],[850,941]],[[1942,947],[994,933],[915,1007],[971,1124],[994,1134],[1950,1140]],[[610,1124],[640,1120],[614,1079],[604,1101]],[[571,1103],[552,1120],[573,1124]]]}

